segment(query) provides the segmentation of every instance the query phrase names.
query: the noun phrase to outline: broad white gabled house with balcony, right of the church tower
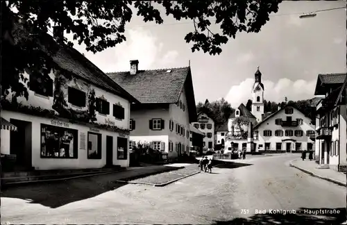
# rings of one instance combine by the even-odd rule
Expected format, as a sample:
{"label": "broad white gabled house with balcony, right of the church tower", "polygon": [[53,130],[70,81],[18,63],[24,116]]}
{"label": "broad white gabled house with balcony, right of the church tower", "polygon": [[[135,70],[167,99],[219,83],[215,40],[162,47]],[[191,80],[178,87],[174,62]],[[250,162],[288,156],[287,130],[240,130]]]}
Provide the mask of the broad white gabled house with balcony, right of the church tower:
{"label": "broad white gabled house with balcony, right of the church tower", "polygon": [[279,108],[253,130],[257,152],[314,151],[314,125],[309,117],[292,106]]}

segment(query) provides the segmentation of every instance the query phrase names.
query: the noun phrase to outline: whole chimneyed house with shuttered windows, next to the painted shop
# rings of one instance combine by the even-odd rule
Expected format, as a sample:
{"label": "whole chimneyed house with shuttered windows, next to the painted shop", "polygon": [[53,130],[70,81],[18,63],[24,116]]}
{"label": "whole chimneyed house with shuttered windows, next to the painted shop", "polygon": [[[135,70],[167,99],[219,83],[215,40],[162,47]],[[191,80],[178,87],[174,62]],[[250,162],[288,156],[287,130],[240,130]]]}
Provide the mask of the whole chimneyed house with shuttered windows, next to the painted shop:
{"label": "whole chimneyed house with shuttered windows, next to the painted shop", "polygon": [[130,71],[108,76],[138,101],[130,106],[131,143],[148,143],[169,160],[189,152],[189,125],[197,121],[190,66],[142,70],[131,60]]}

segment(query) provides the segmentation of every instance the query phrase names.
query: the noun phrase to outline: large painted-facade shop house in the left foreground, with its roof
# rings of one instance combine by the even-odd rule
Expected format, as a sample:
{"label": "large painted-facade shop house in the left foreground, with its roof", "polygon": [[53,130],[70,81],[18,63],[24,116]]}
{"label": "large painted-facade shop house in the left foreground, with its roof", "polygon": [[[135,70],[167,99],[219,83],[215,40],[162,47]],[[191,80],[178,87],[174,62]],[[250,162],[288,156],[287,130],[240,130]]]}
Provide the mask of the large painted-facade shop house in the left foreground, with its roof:
{"label": "large painted-facade shop house in the left foreground, with its roof", "polygon": [[[27,32],[14,24],[13,44]],[[90,60],[58,41],[63,32],[42,37],[58,50],[53,69],[26,69],[20,81],[28,99],[1,97],[1,157],[15,156],[15,169],[85,169],[128,167],[131,94]],[[45,73],[46,72],[46,73]],[[41,74],[41,76],[37,75]],[[45,75],[46,74],[46,75]],[[27,79],[28,83],[25,82]]]}

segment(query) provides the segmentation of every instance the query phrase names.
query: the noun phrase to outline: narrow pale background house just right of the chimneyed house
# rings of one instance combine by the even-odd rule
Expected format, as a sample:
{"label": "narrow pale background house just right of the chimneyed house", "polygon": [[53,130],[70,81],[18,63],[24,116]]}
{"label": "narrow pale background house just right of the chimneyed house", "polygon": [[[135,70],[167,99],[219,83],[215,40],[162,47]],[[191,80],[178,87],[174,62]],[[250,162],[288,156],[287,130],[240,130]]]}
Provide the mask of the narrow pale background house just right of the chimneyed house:
{"label": "narrow pale background house just right of the chimneyed house", "polygon": [[198,113],[197,122],[192,125],[205,135],[203,151],[214,151],[214,120],[206,113],[201,112]]}

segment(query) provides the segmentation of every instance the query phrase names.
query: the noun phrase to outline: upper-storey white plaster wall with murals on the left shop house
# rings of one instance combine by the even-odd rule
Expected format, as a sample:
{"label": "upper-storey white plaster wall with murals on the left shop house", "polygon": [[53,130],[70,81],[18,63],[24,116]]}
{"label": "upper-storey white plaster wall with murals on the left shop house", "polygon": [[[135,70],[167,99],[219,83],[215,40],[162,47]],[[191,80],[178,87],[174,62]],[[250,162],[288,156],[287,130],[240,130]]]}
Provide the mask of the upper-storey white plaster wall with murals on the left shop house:
{"label": "upper-storey white plaster wall with murals on the left shop house", "polygon": [[[24,76],[29,79],[29,75],[24,73]],[[49,74],[51,79],[53,80],[53,92],[54,92],[54,78],[55,75],[53,72]],[[22,81],[21,81],[22,82]],[[23,82],[22,82],[23,83]],[[26,85],[27,86],[27,85]],[[115,126],[121,127],[121,128],[129,128],[129,115],[130,115],[130,103],[128,100],[123,99],[115,94],[112,94],[110,92],[107,92],[105,90],[102,90],[101,88],[96,87],[95,85],[86,83],[85,81],[82,81],[81,79],[78,78],[73,78],[69,83],[67,83],[67,86],[72,87],[72,88],[77,88],[86,94],[86,104],[85,107],[81,108],[78,106],[73,106],[71,103],[68,102],[68,96],[67,96],[67,87],[63,88],[65,92],[65,99],[67,101],[67,105],[69,108],[72,108],[74,110],[87,110],[88,107],[88,94],[89,91],[94,89],[95,90],[95,97],[104,97],[109,103],[110,103],[110,114],[109,115],[102,115],[98,112],[96,112],[96,122],[105,124],[105,120],[108,120],[110,122],[114,122]],[[35,107],[41,107],[41,108],[46,108],[49,110],[52,110],[52,105],[53,105],[53,97],[44,97],[40,94],[35,94],[32,90],[29,90],[28,88],[28,101],[24,97],[19,97],[17,98],[18,103],[22,103],[23,105],[31,105]],[[8,94],[8,100],[11,100],[11,94]],[[121,106],[124,108],[124,119],[116,119],[113,116],[113,104],[120,103]]]}

